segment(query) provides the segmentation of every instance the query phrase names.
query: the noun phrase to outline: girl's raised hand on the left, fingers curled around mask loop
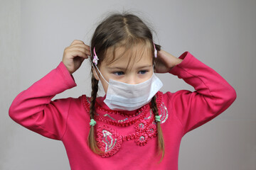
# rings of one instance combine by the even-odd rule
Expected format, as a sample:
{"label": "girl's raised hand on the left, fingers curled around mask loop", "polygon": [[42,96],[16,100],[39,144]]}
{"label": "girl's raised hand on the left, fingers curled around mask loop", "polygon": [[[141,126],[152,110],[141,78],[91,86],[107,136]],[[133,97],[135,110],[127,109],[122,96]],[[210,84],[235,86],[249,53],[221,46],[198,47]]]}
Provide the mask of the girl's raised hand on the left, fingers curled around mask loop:
{"label": "girl's raised hand on the left, fingers curled around mask loop", "polygon": [[70,46],[66,47],[63,52],[62,62],[67,67],[68,72],[73,74],[81,66],[83,60],[90,56],[90,47],[85,45],[81,40],[74,40]]}

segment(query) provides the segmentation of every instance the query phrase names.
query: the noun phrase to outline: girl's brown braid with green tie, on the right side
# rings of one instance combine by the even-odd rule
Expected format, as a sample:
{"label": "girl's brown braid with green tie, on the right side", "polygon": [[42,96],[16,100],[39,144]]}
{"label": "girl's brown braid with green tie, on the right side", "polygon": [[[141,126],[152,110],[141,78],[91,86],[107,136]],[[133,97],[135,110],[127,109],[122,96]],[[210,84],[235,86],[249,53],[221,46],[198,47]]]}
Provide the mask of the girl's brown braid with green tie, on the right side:
{"label": "girl's brown braid with green tie, on the right side", "polygon": [[[151,109],[152,109],[152,111],[155,115],[159,115],[159,111],[158,111],[157,105],[156,105],[156,96],[154,96],[151,99]],[[157,133],[158,133],[157,136],[158,136],[159,152],[162,152],[162,156],[161,156],[161,160],[160,160],[160,162],[161,162],[162,159],[164,158],[164,137],[163,137],[163,133],[162,133],[160,124],[161,124],[160,122],[156,121]]]}

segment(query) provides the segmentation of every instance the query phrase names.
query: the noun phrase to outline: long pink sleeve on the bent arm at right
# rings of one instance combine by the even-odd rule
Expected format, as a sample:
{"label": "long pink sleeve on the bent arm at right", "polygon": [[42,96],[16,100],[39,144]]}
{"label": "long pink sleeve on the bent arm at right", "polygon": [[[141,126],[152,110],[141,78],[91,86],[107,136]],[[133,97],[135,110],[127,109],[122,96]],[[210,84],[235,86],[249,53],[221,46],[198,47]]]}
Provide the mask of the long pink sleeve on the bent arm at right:
{"label": "long pink sleeve on the bent arm at right", "polygon": [[183,135],[223,113],[236,98],[235,89],[210,67],[184,52],[181,64],[171,69],[196,91],[167,92],[169,106],[183,125]]}

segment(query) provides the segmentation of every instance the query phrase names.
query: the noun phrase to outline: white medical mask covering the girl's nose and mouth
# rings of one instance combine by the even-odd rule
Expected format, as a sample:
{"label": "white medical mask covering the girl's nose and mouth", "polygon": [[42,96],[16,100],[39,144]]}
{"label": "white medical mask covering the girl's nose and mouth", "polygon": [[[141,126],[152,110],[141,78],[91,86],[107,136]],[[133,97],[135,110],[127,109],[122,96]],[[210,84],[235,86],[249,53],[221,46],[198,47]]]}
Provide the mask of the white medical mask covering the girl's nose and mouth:
{"label": "white medical mask covering the girl's nose and mouth", "polygon": [[[95,67],[97,68],[96,65]],[[97,70],[100,72],[98,68]],[[100,75],[102,76],[101,72]],[[103,76],[102,78],[105,80]],[[112,79],[107,84],[107,95],[104,103],[115,111],[134,111],[141,108],[149,103],[163,86],[161,80],[154,73],[150,79],[140,84],[126,84]]]}

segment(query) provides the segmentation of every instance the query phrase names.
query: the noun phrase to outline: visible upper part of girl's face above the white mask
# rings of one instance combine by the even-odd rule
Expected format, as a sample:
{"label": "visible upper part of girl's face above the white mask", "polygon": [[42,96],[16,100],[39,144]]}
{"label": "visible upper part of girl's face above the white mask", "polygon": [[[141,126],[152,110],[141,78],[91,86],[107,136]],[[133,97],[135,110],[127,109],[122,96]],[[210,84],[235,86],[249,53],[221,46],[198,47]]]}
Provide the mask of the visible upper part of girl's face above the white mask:
{"label": "visible upper part of girl's face above the white mask", "polygon": [[[123,55],[123,52],[124,48],[119,47],[115,50],[117,60],[111,64],[107,64],[106,60],[101,62],[99,69],[106,81],[109,82],[109,79],[113,79],[127,84],[140,84],[151,78],[153,62],[150,48],[139,52],[132,52],[136,54],[132,55],[132,57],[127,56],[131,52],[127,52],[124,56],[120,57]],[[112,50],[107,50],[105,57],[112,57],[112,55]],[[97,75],[100,76],[100,74]],[[94,72],[95,79],[98,79],[97,75]],[[100,76],[104,91],[107,93],[108,84],[105,80]]]}

